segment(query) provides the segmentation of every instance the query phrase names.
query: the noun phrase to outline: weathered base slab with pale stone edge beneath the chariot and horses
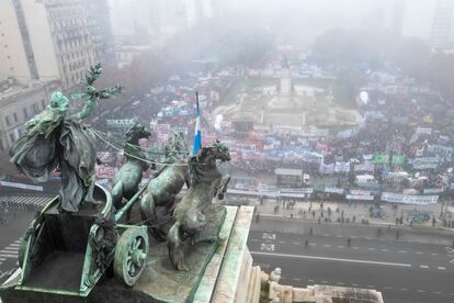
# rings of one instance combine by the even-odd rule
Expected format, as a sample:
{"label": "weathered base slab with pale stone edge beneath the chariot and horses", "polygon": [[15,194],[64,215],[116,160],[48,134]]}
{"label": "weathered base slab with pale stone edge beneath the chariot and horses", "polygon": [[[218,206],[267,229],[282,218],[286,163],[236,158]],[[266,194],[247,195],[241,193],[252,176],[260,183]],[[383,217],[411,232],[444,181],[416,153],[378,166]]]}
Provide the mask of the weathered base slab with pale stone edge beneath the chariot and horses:
{"label": "weathered base slab with pale stone edge beneath the chariot and horses", "polygon": [[[87,298],[67,295],[63,291],[24,291],[15,289],[20,277],[18,269],[1,285],[1,300],[4,303],[120,303],[234,302],[238,295],[246,299],[246,281],[249,280],[252,263],[246,244],[253,207],[214,205],[209,213],[206,228],[218,233],[219,242],[190,246],[190,252],[186,255],[189,271],[175,270],[168,257],[167,244],[151,240],[147,266],[133,288],[125,287],[107,271]],[[247,277],[242,277],[245,274]]]}

